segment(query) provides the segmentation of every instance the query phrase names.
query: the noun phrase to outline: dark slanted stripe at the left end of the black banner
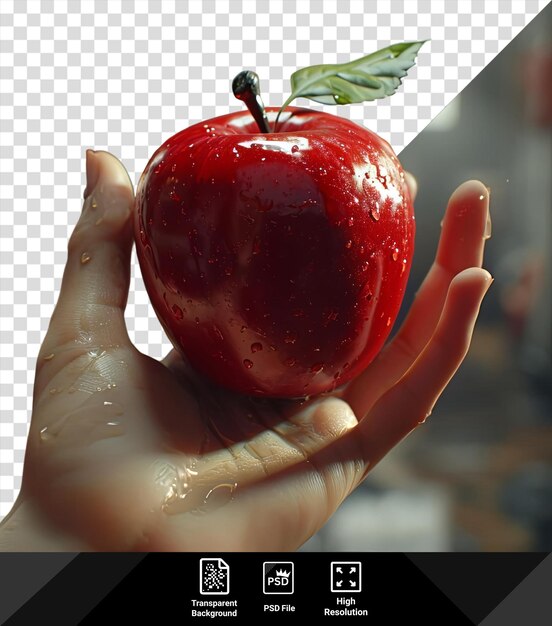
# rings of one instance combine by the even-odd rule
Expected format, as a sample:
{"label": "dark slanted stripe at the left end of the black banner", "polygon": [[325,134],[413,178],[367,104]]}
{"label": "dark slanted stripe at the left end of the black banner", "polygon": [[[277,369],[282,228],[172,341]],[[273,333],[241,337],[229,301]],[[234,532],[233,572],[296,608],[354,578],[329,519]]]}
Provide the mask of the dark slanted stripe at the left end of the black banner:
{"label": "dark slanted stripe at the left end of the black banner", "polygon": [[145,554],[79,554],[6,622],[28,626],[43,620],[74,626],[113,587],[131,572]]}

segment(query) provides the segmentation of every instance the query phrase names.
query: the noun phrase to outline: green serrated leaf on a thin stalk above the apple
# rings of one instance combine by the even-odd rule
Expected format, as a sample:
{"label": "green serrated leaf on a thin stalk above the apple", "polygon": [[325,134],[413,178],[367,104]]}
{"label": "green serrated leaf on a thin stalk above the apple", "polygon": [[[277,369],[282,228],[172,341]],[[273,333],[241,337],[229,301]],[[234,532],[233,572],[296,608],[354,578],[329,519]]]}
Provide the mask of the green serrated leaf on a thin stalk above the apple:
{"label": "green serrated leaf on a thin stalk above the apple", "polygon": [[291,96],[278,111],[275,126],[280,113],[295,98],[321,104],[352,104],[393,95],[424,43],[396,43],[356,61],[297,70],[291,75]]}

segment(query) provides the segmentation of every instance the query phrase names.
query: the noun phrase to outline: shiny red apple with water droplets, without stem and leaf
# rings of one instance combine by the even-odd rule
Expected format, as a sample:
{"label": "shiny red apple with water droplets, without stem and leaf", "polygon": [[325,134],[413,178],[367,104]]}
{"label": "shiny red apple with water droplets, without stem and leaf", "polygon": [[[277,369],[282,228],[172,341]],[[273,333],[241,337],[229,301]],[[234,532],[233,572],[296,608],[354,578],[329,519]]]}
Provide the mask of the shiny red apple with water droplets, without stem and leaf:
{"label": "shiny red apple with water droplets, without stem and leaf", "polygon": [[247,111],[190,126],[136,190],[137,255],[168,337],[247,395],[304,397],[358,375],[398,314],[414,232],[389,144],[298,107],[277,133]]}

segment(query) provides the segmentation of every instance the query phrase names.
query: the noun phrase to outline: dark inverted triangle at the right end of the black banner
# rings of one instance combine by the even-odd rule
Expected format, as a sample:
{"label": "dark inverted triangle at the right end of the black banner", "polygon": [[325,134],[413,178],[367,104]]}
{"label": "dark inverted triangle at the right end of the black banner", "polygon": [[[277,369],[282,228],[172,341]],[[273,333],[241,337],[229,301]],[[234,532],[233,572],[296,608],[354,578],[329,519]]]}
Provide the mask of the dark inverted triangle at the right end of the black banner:
{"label": "dark inverted triangle at the right end of the black banner", "polygon": [[492,611],[546,556],[515,554],[408,554],[408,558],[474,623]]}

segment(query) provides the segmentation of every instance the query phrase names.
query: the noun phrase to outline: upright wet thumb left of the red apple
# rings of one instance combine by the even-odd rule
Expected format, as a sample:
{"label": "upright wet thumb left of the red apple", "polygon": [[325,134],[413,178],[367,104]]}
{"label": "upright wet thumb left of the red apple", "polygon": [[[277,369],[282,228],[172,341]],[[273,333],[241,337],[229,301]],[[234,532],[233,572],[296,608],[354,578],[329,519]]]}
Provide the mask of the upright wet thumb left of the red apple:
{"label": "upright wet thumb left of the red apple", "polygon": [[67,344],[129,342],[124,309],[130,282],[134,191],[109,152],[86,151],[84,204],[68,245],[59,299],[39,354]]}

